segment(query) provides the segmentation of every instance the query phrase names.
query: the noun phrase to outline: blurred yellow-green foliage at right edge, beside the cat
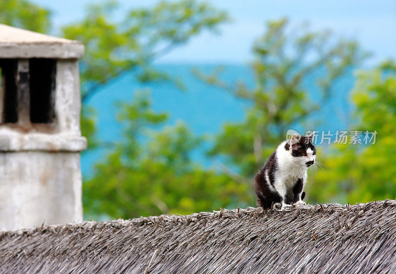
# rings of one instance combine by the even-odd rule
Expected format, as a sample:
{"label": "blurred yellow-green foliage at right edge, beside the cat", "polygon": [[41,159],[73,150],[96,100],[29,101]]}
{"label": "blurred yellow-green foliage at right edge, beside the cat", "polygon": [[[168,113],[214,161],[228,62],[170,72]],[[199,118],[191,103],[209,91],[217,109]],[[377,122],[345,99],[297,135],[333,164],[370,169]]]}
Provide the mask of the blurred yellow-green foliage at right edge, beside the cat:
{"label": "blurred yellow-green foliage at right edge, beside the cat", "polygon": [[324,170],[309,185],[313,202],[364,203],[396,198],[395,63],[359,71],[352,102],[357,123],[350,130],[377,131],[375,143],[334,145],[325,157]]}

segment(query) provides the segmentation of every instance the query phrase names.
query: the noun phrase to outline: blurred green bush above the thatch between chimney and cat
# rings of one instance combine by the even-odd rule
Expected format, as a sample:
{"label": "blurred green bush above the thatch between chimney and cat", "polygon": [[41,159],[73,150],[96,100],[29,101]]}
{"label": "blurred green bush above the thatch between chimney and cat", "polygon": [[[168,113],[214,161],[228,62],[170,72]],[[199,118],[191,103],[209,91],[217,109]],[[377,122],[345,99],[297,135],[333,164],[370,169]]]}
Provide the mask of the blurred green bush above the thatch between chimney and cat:
{"label": "blurred green bush above the thatch between chimney and cat", "polygon": [[153,112],[148,92],[137,92],[120,109],[123,141],[84,183],[88,219],[190,214],[249,204],[247,184],[194,163],[192,153],[201,138],[184,123],[160,127],[167,115]]}

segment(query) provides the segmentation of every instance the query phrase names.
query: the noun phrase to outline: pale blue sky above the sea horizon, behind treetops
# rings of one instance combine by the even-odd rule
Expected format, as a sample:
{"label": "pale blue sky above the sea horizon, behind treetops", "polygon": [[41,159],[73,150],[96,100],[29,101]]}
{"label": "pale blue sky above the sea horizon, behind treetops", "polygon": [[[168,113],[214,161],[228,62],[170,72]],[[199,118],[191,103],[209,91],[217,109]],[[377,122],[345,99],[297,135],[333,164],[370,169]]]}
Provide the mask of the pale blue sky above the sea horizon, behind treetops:
{"label": "pale blue sky above the sea horizon, behind treetops", "polygon": [[[93,0],[32,0],[53,12],[55,26],[75,22]],[[152,6],[158,0],[119,0],[125,9]],[[162,57],[160,63],[247,63],[251,46],[267,20],[288,17],[292,24],[309,22],[312,29],[331,29],[355,39],[374,55],[369,62],[396,59],[396,0],[213,0],[233,19],[220,35],[202,33]]]}

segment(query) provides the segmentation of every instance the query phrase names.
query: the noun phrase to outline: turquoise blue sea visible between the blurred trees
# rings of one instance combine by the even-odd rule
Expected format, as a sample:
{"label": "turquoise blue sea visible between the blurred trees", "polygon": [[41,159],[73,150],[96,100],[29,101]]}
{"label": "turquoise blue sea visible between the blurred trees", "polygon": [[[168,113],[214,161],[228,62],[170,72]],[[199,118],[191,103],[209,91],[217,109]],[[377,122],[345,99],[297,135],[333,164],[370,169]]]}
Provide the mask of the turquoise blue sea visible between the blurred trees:
{"label": "turquoise blue sea visible between the blurred trees", "polygon": [[[219,66],[224,67],[220,76],[223,82],[233,86],[236,82],[243,81],[247,87],[254,87],[253,72],[248,65],[243,64],[156,65],[157,69],[179,79],[185,87],[183,90],[169,82],[140,83],[136,79],[137,72],[133,71],[125,72],[120,77],[111,80],[87,102],[96,110],[98,139],[104,142],[122,140],[121,126],[116,120],[116,114],[119,111],[116,102],[132,101],[133,93],[142,89],[151,91],[152,107],[155,111],[169,114],[168,125],[182,120],[196,135],[210,137],[220,132],[224,123],[243,121],[250,102],[204,83],[193,73],[193,69],[198,69],[204,74],[209,74]],[[303,88],[308,91],[308,95],[314,101],[319,98],[315,81],[321,75],[320,73],[312,74],[303,83]],[[318,131],[347,129],[351,123],[349,97],[353,83],[354,77],[350,71],[336,82],[333,96],[325,105],[322,105],[321,110],[316,112],[306,125],[296,125],[295,129],[297,131],[305,131],[304,127],[315,128]],[[317,122],[318,120],[320,123]],[[95,163],[104,160],[107,153],[108,149],[98,148],[82,154],[81,166],[85,178],[92,176]],[[196,151],[193,157],[202,165],[210,166],[210,159],[205,158],[203,153],[201,149]]]}

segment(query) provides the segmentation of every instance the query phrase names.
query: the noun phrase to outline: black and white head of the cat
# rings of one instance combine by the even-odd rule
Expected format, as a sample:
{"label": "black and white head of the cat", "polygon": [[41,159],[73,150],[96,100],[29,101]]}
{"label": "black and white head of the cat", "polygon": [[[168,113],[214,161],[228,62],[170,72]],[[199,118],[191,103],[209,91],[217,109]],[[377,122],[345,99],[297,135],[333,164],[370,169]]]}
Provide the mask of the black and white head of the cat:
{"label": "black and white head of the cat", "polygon": [[308,136],[294,134],[285,144],[285,149],[291,153],[293,159],[307,167],[315,163],[316,149],[312,143],[314,134],[315,132]]}

